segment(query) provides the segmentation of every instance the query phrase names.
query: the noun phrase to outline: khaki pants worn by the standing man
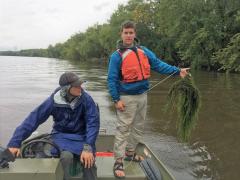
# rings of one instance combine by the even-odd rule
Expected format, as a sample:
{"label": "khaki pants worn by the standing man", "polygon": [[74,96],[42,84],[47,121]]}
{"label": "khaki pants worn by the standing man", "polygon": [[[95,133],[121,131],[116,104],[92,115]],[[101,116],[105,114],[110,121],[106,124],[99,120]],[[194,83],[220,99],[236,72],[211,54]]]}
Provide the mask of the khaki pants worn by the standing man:
{"label": "khaki pants worn by the standing man", "polygon": [[121,100],[125,103],[125,111],[117,110],[115,159],[124,157],[125,149],[135,149],[142,141],[147,113],[147,94],[123,95]]}

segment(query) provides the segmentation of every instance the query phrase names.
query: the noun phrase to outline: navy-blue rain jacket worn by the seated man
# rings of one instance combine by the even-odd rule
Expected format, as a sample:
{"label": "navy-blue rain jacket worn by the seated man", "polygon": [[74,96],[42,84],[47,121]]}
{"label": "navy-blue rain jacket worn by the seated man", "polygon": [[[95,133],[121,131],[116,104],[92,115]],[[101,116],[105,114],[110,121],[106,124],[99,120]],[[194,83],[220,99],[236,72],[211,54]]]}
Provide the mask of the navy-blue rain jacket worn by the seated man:
{"label": "navy-blue rain jacket worn by the seated man", "polygon": [[95,152],[95,142],[100,127],[99,112],[95,102],[82,90],[75,108],[72,108],[69,104],[58,103],[55,100],[57,93],[59,88],[16,128],[8,147],[20,147],[22,141],[52,115],[54,121],[52,139],[61,150],[79,155],[83,150],[83,144],[88,144]]}

